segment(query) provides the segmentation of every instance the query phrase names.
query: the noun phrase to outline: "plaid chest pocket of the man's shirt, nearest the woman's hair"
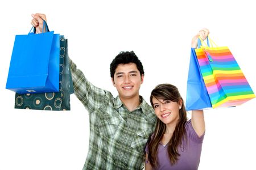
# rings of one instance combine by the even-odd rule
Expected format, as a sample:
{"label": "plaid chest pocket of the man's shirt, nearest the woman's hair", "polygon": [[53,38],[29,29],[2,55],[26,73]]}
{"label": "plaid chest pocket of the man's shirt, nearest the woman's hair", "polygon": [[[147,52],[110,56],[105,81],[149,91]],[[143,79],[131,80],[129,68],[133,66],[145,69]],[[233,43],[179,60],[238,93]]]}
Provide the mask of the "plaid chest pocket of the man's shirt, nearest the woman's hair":
{"label": "plaid chest pocket of the man's shirt, nearest the woman's hair", "polygon": [[133,147],[139,153],[143,153],[149,136],[150,130],[138,129],[136,131],[136,135],[133,139],[133,142],[131,143],[131,147]]}

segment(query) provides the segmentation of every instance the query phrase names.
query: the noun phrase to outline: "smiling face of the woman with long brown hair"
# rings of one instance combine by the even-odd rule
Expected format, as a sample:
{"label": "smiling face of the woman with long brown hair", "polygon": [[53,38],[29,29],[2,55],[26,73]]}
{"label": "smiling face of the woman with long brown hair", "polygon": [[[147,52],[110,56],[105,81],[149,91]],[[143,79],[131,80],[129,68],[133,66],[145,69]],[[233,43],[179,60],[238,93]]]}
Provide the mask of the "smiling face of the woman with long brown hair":
{"label": "smiling face of the woman with long brown hair", "polygon": [[156,99],[152,98],[153,108],[155,110],[156,116],[164,123],[164,124],[176,124],[179,120],[179,110],[181,108],[182,100],[180,100],[180,104],[164,99]]}

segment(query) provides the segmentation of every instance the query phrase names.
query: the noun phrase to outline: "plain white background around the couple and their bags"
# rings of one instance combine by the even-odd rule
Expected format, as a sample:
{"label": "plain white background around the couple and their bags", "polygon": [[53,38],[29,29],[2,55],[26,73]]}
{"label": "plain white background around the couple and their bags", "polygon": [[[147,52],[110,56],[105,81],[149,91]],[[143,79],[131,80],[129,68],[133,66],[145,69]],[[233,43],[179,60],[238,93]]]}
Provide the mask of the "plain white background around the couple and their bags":
{"label": "plain white background around the couple and their bags", "polygon": [[[230,48],[256,92],[253,1],[6,1],[0,6],[0,169],[82,169],[88,151],[88,113],[75,95],[72,111],[28,111],[14,109],[15,94],[5,89],[15,35],[28,33],[36,12],[65,35],[69,56],[90,82],[114,96],[110,62],[134,50],[144,65],[144,99],[159,83],[175,84],[185,99],[191,39],[201,28]],[[255,105],[253,99],[205,111],[199,169],[255,169]]]}

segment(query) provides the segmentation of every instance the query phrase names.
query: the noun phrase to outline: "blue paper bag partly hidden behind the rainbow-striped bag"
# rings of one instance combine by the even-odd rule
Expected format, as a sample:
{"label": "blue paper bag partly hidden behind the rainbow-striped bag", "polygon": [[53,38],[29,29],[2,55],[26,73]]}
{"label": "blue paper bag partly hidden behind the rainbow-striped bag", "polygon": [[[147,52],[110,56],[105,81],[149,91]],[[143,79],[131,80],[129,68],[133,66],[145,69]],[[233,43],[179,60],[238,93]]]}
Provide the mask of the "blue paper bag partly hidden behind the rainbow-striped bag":
{"label": "blue paper bag partly hidden behind the rainbow-striped bag", "polygon": [[[207,43],[209,44],[208,39]],[[198,46],[201,46],[201,41],[198,41]],[[210,97],[204,84],[203,75],[200,73],[196,52],[193,48],[191,48],[187,80],[187,99],[185,104],[187,111],[212,108]]]}

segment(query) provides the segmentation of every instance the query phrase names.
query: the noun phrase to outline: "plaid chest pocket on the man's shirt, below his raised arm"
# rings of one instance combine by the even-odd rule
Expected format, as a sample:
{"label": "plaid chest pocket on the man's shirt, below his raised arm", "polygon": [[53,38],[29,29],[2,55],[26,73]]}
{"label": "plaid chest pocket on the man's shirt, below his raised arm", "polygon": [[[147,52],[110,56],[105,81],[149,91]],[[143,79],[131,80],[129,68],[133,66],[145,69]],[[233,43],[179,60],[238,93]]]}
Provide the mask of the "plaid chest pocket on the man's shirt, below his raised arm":
{"label": "plaid chest pocket on the man's shirt, below his raised arm", "polygon": [[97,121],[97,128],[104,137],[113,138],[117,132],[121,120],[110,114],[104,114]]}

